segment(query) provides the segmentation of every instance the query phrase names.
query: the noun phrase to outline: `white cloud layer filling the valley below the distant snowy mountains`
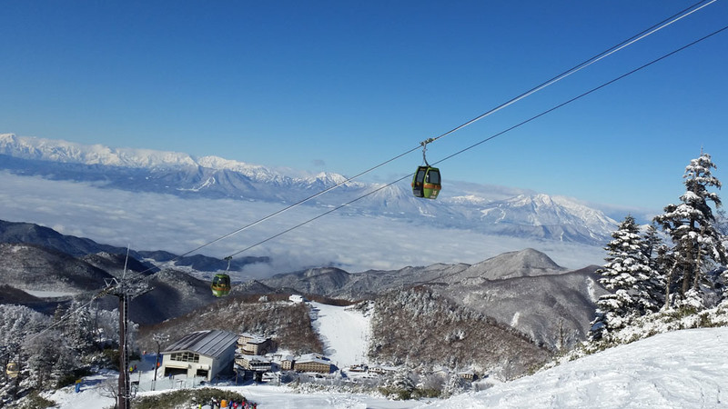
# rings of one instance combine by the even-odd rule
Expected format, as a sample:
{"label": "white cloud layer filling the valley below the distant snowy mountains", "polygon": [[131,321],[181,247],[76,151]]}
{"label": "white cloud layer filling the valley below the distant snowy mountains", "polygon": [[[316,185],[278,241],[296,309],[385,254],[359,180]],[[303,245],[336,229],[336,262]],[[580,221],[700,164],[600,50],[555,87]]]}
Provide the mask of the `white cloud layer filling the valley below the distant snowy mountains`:
{"label": "white cloud layer filling the valley below the distant snowy mountains", "polygon": [[[286,206],[182,199],[8,172],[0,172],[0,184],[0,218],[4,220],[42,224],[62,234],[104,244],[176,254],[187,253]],[[298,206],[198,253],[216,257],[237,253],[325,210]],[[349,272],[434,263],[473,264],[527,247],[570,268],[602,264],[604,256],[599,247],[440,229],[426,221],[412,224],[380,216],[350,216],[342,210],[239,254],[272,257],[270,265],[251,265],[245,273],[259,277],[329,264]]]}

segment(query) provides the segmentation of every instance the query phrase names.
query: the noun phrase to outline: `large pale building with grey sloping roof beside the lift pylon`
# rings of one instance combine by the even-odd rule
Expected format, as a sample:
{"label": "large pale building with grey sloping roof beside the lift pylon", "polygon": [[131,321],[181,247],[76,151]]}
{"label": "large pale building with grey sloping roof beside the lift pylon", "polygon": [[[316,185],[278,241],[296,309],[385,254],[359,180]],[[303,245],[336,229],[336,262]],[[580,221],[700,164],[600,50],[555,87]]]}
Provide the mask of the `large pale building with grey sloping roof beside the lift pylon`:
{"label": "large pale building with grey sloping roof beside the lift pylon", "polygon": [[235,360],[238,335],[227,331],[197,331],[188,334],[162,352],[162,374],[204,376],[229,374]]}

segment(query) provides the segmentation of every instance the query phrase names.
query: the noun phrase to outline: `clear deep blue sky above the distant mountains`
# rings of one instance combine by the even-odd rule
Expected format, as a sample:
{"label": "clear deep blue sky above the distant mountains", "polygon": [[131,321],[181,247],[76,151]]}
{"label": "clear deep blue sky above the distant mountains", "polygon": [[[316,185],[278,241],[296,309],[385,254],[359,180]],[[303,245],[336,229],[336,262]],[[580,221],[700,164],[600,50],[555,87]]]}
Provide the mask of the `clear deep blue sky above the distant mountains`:
{"label": "clear deep blue sky above the distant mountains", "polygon": [[[0,133],[355,175],[693,3],[2,1]],[[727,24],[719,0],[440,139],[428,158]],[[660,210],[701,147],[728,182],[726,62],[723,32],[440,164],[443,177]]]}

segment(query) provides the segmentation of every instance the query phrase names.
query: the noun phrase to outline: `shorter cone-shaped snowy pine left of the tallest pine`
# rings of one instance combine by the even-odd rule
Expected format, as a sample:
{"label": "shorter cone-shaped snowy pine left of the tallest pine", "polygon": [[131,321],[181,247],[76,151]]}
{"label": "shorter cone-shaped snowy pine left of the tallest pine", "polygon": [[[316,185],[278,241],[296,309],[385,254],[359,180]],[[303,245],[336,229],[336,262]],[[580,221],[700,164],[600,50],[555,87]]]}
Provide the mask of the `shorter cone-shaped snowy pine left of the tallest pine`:
{"label": "shorter cone-shaped snowy pine left of the tallest pine", "polygon": [[633,316],[655,311],[654,273],[645,255],[645,244],[634,217],[628,215],[612,233],[604,247],[606,264],[597,273],[611,294],[597,301],[596,318],[591,322],[590,339],[602,339],[605,333],[624,327]]}

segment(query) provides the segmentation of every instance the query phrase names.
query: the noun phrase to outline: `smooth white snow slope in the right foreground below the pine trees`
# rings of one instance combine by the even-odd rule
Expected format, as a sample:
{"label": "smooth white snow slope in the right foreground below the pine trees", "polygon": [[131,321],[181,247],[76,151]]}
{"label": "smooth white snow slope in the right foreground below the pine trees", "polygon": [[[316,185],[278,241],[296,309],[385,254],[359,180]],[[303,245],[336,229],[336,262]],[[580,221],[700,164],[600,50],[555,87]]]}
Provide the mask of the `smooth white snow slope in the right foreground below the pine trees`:
{"label": "smooth white snow slope in the right foreground below the pine trees", "polygon": [[421,407],[717,407],[728,403],[726,339],[724,327],[659,334]]}

